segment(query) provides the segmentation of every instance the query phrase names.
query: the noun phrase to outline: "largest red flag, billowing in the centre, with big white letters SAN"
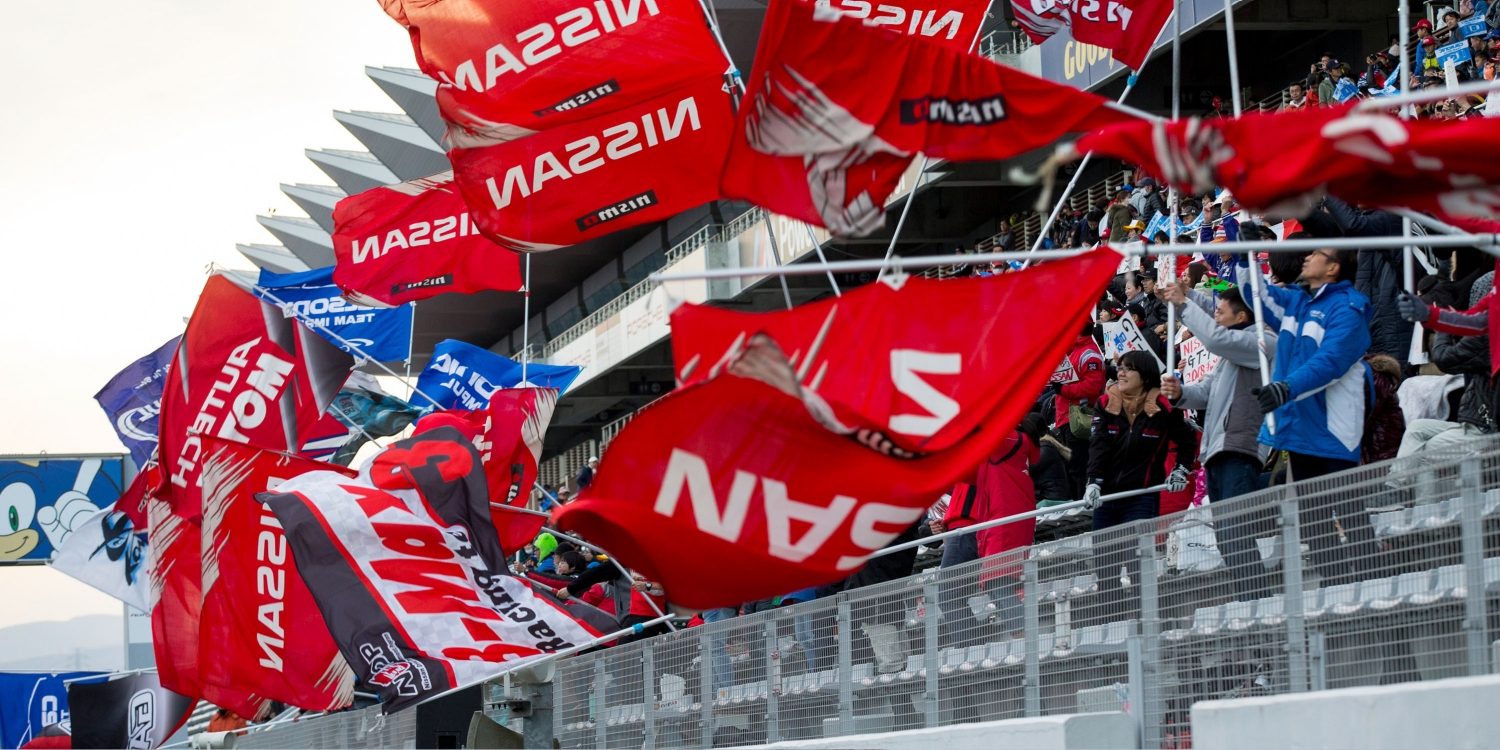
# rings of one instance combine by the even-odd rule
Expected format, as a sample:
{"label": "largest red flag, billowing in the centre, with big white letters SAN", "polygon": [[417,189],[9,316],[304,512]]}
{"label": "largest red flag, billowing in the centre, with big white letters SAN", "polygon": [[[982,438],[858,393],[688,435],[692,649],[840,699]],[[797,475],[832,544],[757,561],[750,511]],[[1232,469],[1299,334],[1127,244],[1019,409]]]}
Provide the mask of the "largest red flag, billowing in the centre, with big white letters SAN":
{"label": "largest red flag, billowing in the centre, with big white letters SAN", "polygon": [[[960,406],[975,412],[954,417],[969,429],[951,447],[912,456],[860,429],[864,424],[837,424],[822,399],[800,384],[824,369],[808,370],[808,350],[802,350],[801,364],[792,364],[771,336],[758,333],[722,374],[674,392],[632,418],[610,442],[594,482],[558,512],[558,525],[616,552],[687,608],[765,598],[848,576],[968,477],[1016,428],[1119,264],[1113,252],[1086,258],[1072,267],[1072,291],[1053,294],[1046,315],[1018,303],[1020,296],[986,314],[951,310],[963,320],[999,320],[987,328],[988,338],[966,346],[998,356],[962,357],[964,364],[975,363],[954,374],[969,381],[963,387],[936,381],[954,393],[998,394],[987,404]],[[1035,273],[1016,274],[1017,286],[1026,286]],[[804,342],[818,339],[820,322],[801,320],[802,327],[786,333],[766,328],[778,339]],[[837,339],[828,338],[826,380],[813,376],[826,394],[872,386],[874,375],[850,372],[846,358],[880,362],[900,346],[894,334],[842,340],[855,332],[838,330]],[[834,374],[848,380],[834,380]],[[926,392],[916,404],[930,398],[932,387],[908,384],[912,393]],[[880,396],[868,400],[861,414],[872,420],[892,406],[910,406]],[[684,566],[682,549],[705,560],[734,560],[736,573]]]}

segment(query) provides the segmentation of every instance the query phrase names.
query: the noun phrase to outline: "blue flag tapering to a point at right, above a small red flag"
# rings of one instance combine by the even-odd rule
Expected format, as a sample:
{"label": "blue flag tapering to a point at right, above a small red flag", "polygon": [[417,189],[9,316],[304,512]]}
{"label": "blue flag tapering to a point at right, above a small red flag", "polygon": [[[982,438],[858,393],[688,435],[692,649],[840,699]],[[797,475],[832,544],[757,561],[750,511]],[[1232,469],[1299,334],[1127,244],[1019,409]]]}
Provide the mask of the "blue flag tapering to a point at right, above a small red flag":
{"label": "blue flag tapering to a point at right, above a small red flag", "polygon": [[[526,364],[526,382],[544,388],[567,390],[582,368],[570,364]],[[482,350],[472,344],[446,339],[432,348],[432,362],[417,378],[417,390],[426,393],[446,410],[482,410],[500,388],[520,386],[520,363]],[[428,406],[417,396],[417,405]]]}

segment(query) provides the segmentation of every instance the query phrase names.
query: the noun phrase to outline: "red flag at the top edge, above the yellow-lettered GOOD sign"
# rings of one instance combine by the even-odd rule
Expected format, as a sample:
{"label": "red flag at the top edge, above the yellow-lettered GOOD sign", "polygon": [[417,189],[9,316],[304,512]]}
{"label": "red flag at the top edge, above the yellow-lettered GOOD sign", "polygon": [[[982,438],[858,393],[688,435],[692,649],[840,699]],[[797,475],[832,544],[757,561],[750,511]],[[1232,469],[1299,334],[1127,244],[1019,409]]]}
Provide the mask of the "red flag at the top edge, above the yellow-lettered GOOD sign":
{"label": "red flag at the top edge, above the yellow-lettered GOOD sign", "polygon": [[1059,0],[1011,0],[1016,21],[1034,44],[1064,28],[1072,39],[1102,46],[1132,70],[1146,64],[1156,36],[1172,18],[1172,0],[1107,0],[1071,4]]}

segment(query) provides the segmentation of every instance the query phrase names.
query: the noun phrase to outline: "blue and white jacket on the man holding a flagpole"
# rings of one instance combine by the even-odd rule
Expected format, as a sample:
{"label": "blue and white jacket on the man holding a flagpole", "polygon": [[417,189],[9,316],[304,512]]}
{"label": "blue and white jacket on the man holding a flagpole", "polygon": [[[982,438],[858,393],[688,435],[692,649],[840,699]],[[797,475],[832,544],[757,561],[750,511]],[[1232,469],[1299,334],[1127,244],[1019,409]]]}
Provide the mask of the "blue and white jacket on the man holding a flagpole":
{"label": "blue and white jacket on the man holding a flagpole", "polygon": [[[1250,267],[1239,267],[1240,278]],[[1272,381],[1286,382],[1292,400],[1275,411],[1276,432],[1260,428],[1260,442],[1276,450],[1359,462],[1365,434],[1365,352],[1370,350],[1370,300],[1350,282],[1308,296],[1300,288],[1262,284],[1268,322],[1280,321]]]}

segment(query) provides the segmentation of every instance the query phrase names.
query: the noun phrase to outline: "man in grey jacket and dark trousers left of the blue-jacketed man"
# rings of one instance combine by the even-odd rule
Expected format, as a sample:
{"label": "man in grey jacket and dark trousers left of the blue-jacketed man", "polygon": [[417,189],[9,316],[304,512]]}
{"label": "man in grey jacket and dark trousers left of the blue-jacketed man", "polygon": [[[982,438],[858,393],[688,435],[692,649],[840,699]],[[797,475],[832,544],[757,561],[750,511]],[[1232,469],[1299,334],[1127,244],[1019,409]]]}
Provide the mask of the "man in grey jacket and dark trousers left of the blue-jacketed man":
{"label": "man in grey jacket and dark trousers left of the blue-jacketed man", "polygon": [[[1209,500],[1224,502],[1248,495],[1258,489],[1268,453],[1260,444],[1260,404],[1251,393],[1260,384],[1260,336],[1264,334],[1266,358],[1275,362],[1276,333],[1256,324],[1256,314],[1238,286],[1220,292],[1216,302],[1179,286],[1168,286],[1166,297],[1203,348],[1222,358],[1208,378],[1192,386],[1162,376],[1161,392],[1180,408],[1206,410],[1198,458]],[[1216,530],[1220,552],[1234,576],[1234,596],[1240,602],[1251,602],[1268,588],[1256,536],[1269,519],[1257,510],[1230,508]]]}

